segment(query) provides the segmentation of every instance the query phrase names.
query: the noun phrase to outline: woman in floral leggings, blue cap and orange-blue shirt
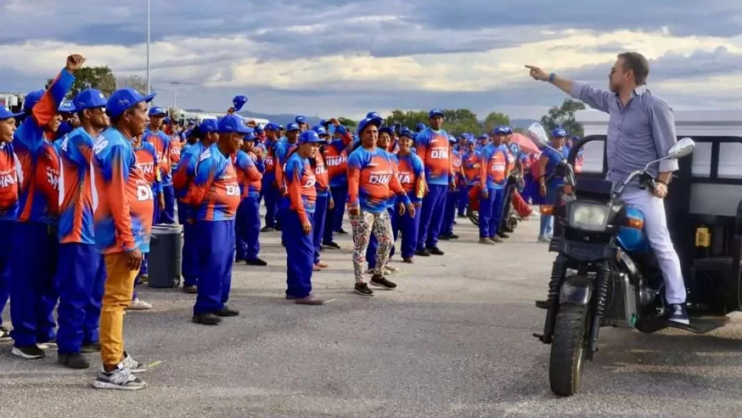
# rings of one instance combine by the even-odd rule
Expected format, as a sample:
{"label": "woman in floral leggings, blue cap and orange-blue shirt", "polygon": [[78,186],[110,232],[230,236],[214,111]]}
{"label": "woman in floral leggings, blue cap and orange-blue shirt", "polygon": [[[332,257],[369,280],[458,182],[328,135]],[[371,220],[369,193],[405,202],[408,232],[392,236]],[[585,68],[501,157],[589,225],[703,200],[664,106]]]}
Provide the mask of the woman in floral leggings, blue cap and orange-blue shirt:
{"label": "woman in floral leggings, blue cap and orange-blue shirt", "polygon": [[387,202],[398,195],[407,211],[415,213],[410,197],[402,189],[395,175],[393,155],[376,147],[381,118],[372,117],[358,124],[361,146],[348,157],[348,216],[353,228],[353,271],[355,293],[372,296],[364,280],[364,262],[371,233],[376,235],[378,250],[376,267],[370,283],[384,289],[397,287],[384,278],[383,270],[393,245],[392,223],[387,212]]}

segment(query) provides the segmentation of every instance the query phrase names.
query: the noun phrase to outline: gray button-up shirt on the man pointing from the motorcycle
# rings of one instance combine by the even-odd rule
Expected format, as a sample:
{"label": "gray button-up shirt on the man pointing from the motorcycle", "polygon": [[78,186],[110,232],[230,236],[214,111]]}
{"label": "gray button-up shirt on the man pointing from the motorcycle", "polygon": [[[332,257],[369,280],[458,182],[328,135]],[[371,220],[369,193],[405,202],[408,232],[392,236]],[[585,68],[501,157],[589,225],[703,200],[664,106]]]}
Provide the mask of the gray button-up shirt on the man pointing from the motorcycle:
{"label": "gray button-up shirt on the man pointing from the motorcycle", "polygon": [[[665,157],[677,142],[672,109],[644,86],[634,90],[626,105],[618,94],[580,82],[573,83],[571,96],[610,115],[607,180],[626,180],[634,170],[644,169],[650,161]],[[649,167],[655,177],[658,172],[674,171],[677,160],[663,160]],[[637,185],[634,181],[630,186]]]}

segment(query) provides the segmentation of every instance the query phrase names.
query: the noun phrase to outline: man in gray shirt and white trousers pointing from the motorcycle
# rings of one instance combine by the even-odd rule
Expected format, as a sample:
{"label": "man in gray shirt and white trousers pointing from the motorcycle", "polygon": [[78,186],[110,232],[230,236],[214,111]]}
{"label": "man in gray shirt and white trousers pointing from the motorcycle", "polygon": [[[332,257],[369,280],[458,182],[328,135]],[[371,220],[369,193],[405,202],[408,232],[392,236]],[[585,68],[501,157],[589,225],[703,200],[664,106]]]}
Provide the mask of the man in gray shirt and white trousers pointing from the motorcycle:
{"label": "man in gray shirt and white trousers pointing from the motorcycle", "polygon": [[[610,115],[608,120],[608,180],[623,181],[628,174],[643,169],[647,163],[667,155],[677,142],[672,109],[646,88],[649,62],[640,53],[620,53],[608,74],[609,91],[580,82],[563,79],[541,68],[526,65],[533,79],[551,82],[566,94],[580,99],[591,108]],[[688,324],[686,287],[680,260],[667,230],[663,198],[676,160],[664,160],[651,166],[649,172],[657,186],[647,192],[637,182],[626,187],[623,201],[639,208],[645,217],[649,244],[654,249],[665,279],[665,298],[670,304],[669,320]]]}

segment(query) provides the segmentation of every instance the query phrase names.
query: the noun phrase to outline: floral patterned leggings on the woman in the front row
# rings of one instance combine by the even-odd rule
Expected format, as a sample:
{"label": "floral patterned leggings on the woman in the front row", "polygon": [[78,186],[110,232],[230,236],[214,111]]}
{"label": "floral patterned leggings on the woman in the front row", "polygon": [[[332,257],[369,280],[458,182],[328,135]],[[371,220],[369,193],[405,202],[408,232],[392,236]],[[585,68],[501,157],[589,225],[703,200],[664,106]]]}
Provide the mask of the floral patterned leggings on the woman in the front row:
{"label": "floral patterned leggings on the woman in the front row", "polygon": [[381,275],[382,267],[387,265],[389,252],[394,245],[392,238],[392,221],[386,210],[380,213],[371,213],[361,210],[359,215],[350,215],[350,225],[353,227],[353,273],[355,283],[364,283],[364,264],[366,264],[366,250],[369,246],[371,233],[376,235],[378,249],[376,251],[376,268],[373,274]]}

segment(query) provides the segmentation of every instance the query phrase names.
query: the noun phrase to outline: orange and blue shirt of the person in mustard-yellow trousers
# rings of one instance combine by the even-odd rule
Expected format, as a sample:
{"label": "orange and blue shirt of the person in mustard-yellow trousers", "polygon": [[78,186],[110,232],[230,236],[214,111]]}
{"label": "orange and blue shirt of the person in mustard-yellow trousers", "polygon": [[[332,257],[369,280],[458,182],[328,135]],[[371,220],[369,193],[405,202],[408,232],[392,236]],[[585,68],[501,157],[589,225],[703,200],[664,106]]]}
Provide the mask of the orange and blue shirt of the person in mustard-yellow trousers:
{"label": "orange and blue shirt of the person in mustard-yellow trousers", "polygon": [[139,248],[149,252],[154,200],[129,140],[108,128],[93,145],[96,246],[103,254]]}

